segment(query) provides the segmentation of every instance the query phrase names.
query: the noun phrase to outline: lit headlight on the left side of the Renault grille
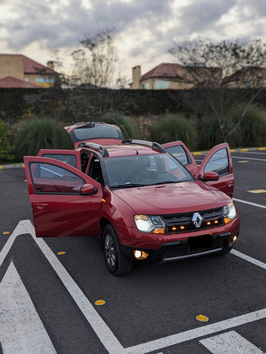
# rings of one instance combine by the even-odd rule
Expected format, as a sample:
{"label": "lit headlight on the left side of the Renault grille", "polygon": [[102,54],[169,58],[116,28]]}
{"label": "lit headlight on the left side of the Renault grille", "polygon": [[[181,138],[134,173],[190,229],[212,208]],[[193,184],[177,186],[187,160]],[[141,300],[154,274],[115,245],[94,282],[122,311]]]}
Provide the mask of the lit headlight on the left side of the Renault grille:
{"label": "lit headlight on the left side of the Renault grille", "polygon": [[164,234],[166,224],[157,215],[134,215],[137,229],[149,234]]}

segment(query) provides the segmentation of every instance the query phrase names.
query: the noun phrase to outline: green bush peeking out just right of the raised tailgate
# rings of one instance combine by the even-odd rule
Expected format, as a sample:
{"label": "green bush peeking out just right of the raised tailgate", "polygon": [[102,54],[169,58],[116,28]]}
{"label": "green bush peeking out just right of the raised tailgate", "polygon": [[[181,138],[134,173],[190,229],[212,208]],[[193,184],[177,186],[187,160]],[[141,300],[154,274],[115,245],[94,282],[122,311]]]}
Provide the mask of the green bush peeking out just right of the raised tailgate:
{"label": "green bush peeking out just right of the raised tailgate", "polygon": [[139,132],[139,127],[134,121],[134,118],[121,115],[120,113],[106,113],[103,120],[108,124],[115,124],[120,127],[125,139],[141,139],[142,135]]}

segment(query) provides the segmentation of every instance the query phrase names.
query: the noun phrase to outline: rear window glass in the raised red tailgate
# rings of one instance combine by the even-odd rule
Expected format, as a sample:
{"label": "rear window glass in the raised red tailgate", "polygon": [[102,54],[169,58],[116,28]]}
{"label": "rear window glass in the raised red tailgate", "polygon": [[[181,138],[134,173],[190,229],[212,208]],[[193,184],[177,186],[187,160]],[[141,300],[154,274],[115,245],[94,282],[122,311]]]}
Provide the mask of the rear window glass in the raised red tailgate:
{"label": "rear window glass in the raised red tailgate", "polygon": [[120,130],[112,125],[95,125],[94,127],[83,125],[72,130],[70,135],[74,142],[100,138],[122,139]]}

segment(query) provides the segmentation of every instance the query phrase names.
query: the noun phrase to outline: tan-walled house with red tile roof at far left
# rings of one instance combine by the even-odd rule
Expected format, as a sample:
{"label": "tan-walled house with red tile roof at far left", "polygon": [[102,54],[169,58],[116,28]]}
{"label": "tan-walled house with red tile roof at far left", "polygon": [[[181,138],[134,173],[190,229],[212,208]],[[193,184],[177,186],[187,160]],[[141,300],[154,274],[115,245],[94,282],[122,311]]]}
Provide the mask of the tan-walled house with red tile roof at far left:
{"label": "tan-walled house with red tile roof at far left", "polygon": [[45,67],[25,55],[0,54],[0,87],[48,89],[56,77],[52,62]]}

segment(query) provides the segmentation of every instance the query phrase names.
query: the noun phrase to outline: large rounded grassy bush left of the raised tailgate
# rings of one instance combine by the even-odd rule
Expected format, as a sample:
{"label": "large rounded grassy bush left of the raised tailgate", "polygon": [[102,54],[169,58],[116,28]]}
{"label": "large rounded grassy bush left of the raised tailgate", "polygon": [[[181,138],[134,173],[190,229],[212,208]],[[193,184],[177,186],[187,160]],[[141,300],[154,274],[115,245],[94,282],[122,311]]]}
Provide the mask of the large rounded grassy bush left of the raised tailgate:
{"label": "large rounded grassy bush left of the raised tailgate", "polygon": [[35,118],[24,122],[15,137],[15,156],[23,161],[23,156],[35,156],[40,149],[73,149],[69,133],[54,120]]}

